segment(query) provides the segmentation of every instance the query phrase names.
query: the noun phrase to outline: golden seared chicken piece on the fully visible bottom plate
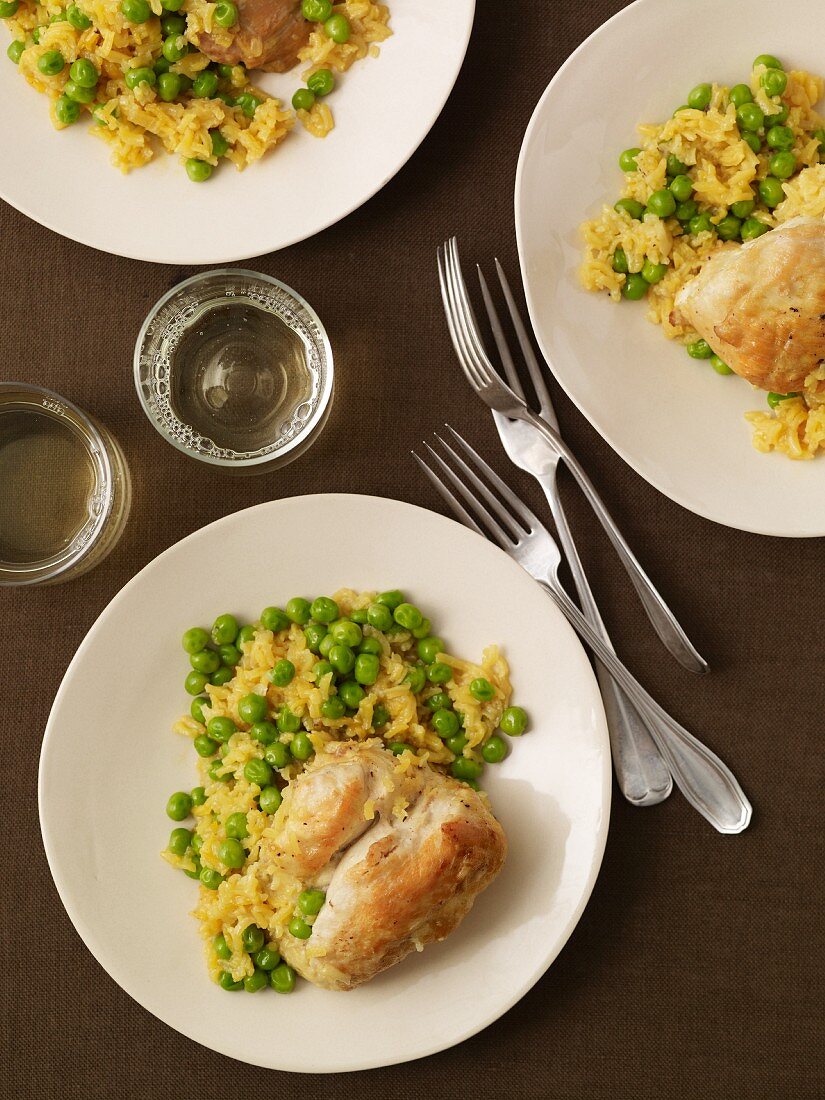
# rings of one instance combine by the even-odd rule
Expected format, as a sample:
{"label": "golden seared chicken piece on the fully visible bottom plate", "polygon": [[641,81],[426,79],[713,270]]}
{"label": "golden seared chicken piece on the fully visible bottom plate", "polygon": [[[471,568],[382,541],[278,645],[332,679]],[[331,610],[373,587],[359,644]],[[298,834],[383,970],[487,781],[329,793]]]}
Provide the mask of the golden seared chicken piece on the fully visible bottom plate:
{"label": "golden seared chicken piece on the fully visible bottom plate", "polygon": [[373,740],[332,743],[285,792],[261,865],[326,891],[309,939],[284,958],[324,989],[353,989],[443,939],[504,864],[504,831],[471,788],[396,771]]}

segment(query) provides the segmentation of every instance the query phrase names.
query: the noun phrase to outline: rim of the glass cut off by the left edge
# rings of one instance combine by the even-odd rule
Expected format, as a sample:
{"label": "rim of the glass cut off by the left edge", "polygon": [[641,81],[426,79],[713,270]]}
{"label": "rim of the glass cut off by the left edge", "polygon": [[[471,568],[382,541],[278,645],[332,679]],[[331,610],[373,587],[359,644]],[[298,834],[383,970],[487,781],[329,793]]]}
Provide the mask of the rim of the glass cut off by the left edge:
{"label": "rim of the glass cut off by the left edge", "polygon": [[[82,409],[78,408],[74,402],[63,397],[54,389],[48,389],[46,386],[38,386],[31,382],[0,382],[0,395],[9,392],[46,398],[68,409],[77,418],[87,433],[87,442],[94,446],[90,458],[95,468],[96,490],[102,490],[103,492],[103,507],[95,517],[95,521],[89,529],[89,535],[82,547],[73,552],[72,544],[69,544],[61,552],[52,554],[51,558],[43,558],[41,561],[25,564],[0,561],[0,587],[23,587],[29,584],[43,584],[47,581],[54,581],[69,570],[75,569],[91,553],[109,521],[114,505],[114,470],[112,469],[109,446],[103,433],[95,420],[87,413],[84,413]],[[50,410],[47,406],[42,407],[43,416],[48,416],[50,411],[52,415],[55,413],[54,409]],[[73,543],[78,534],[79,531],[73,537]]]}

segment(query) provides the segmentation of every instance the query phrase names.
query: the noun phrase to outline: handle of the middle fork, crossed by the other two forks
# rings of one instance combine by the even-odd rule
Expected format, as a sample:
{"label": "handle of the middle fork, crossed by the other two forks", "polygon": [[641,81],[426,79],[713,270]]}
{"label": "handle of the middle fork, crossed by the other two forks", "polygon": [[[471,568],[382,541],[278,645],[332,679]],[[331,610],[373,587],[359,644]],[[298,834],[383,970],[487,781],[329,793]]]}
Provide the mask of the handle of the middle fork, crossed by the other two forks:
{"label": "handle of the middle fork, crossed by the other two forks", "polygon": [[[556,491],[554,480],[548,482],[543,476],[538,480],[550,505],[556,530],[559,534],[559,542],[568,560],[584,617],[605,646],[613,650],[607,628],[602,622],[568,525],[564,508]],[[645,718],[639,714],[624,690],[598,661],[596,662],[596,676],[607,716],[607,732],[610,735],[616,782],[622,793],[632,805],[654,806],[668,798],[673,789],[673,780],[647,729],[646,724],[652,719]]]}

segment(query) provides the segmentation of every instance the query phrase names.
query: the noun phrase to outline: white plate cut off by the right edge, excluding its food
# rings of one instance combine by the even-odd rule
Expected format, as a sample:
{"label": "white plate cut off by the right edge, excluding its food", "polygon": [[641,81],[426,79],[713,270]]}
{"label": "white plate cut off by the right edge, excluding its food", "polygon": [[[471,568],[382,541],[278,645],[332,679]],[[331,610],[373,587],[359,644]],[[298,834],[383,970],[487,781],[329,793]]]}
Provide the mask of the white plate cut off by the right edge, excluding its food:
{"label": "white plate cut off by the right edge, excluding its food", "polygon": [[521,275],[553,374],[637,473],[729,527],[825,535],[825,459],[792,462],[750,443],[765,394],[721,377],[664,339],[645,304],[579,285],[579,224],[622,188],[636,123],[668,118],[702,80],[746,80],[760,53],[825,74],[821,0],[637,0],[559,69],[527,129],[516,179]]}

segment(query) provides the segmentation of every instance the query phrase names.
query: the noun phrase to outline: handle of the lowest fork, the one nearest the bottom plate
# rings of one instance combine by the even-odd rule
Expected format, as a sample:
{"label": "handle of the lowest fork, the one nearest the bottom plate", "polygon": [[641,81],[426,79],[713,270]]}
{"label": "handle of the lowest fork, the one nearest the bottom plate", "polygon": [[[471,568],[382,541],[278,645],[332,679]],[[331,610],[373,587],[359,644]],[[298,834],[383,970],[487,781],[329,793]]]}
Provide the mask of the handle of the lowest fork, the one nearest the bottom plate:
{"label": "handle of the lowest fork, the one nearest the bottom plate", "polygon": [[730,769],[702,741],[679,725],[652,698],[602,641],[556,579],[543,587],[579,636],[618,681],[645,715],[657,719],[651,734],[670,768],[676,787],[690,804],[719,833],[741,833],[750,823],[752,809]]}

